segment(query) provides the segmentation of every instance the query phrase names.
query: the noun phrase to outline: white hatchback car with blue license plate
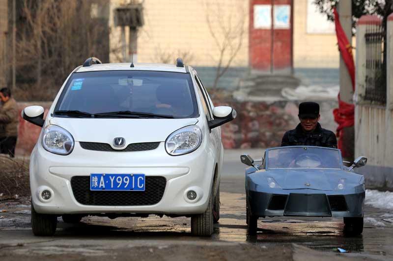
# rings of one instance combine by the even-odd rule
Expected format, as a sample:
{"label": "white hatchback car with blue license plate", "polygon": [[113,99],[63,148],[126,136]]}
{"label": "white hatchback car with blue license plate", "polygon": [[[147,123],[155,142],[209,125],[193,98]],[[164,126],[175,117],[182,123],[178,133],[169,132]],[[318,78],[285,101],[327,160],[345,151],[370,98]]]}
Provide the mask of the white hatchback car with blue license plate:
{"label": "white hatchback car with blue license plate", "polygon": [[214,107],[197,72],[168,64],[101,64],[94,57],[68,76],[30,157],[31,226],[50,236],[57,216],[191,217],[210,236],[220,215],[220,125],[236,117]]}

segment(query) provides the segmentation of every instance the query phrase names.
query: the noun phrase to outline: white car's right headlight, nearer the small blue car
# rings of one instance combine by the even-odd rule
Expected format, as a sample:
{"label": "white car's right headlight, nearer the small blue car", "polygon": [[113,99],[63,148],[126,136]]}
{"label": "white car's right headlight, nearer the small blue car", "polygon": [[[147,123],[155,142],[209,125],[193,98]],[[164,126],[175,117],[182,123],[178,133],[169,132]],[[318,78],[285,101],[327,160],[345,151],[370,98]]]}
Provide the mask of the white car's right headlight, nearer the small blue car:
{"label": "white car's right headlight, nearer the small blue car", "polygon": [[197,125],[191,125],[170,134],[165,142],[165,149],[169,155],[183,155],[196,150],[200,143],[202,131]]}

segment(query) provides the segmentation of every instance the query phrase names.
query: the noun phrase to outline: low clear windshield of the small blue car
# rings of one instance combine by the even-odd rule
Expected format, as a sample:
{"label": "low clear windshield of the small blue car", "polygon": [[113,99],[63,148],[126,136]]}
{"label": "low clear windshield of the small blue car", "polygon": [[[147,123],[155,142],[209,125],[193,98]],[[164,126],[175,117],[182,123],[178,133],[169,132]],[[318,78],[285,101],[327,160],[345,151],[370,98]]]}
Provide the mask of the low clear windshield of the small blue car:
{"label": "low clear windshield of the small blue car", "polygon": [[267,168],[341,168],[338,150],[319,147],[269,149]]}

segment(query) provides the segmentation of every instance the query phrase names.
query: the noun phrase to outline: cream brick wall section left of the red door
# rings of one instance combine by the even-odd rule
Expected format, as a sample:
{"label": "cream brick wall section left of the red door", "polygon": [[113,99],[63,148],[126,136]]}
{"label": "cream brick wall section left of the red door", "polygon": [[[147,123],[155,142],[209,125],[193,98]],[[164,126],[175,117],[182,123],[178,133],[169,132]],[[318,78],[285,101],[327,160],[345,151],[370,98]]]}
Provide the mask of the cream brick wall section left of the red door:
{"label": "cream brick wall section left of the red door", "polygon": [[[113,8],[122,2],[125,1],[111,1],[112,49],[118,49],[120,44],[120,28],[113,27]],[[241,39],[235,39],[241,40],[242,46],[232,66],[248,65],[248,1],[145,0],[143,7],[145,24],[138,37],[138,62],[168,60],[174,63],[178,56],[183,56],[188,57],[185,62],[193,66],[215,67],[220,54],[218,46],[223,45],[221,26],[237,30],[237,24],[242,22],[244,35]],[[218,44],[210,33],[207,16],[211,21],[212,31],[217,34]],[[126,39],[128,40],[128,29]],[[118,53],[112,53],[111,62],[118,61],[118,57]],[[224,60],[228,59],[226,54]]]}

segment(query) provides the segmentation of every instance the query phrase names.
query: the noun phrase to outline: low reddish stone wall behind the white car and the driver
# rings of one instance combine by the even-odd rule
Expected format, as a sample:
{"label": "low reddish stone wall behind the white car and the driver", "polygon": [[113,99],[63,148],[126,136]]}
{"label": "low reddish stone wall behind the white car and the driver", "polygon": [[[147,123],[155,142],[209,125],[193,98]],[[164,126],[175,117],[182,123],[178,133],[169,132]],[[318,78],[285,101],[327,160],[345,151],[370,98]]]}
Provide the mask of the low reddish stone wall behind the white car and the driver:
{"label": "low reddish stone wall behind the white car and the driver", "polygon": [[[213,98],[215,106],[228,105],[237,111],[237,118],[222,126],[223,144],[231,148],[267,148],[280,146],[285,131],[299,123],[297,117],[300,101],[238,102]],[[333,109],[337,101],[319,102],[322,127],[336,131]],[[51,102],[20,102],[19,111],[30,105],[40,105],[47,113]],[[27,122],[19,115],[19,137],[16,155],[28,156],[37,142],[41,128]]]}

